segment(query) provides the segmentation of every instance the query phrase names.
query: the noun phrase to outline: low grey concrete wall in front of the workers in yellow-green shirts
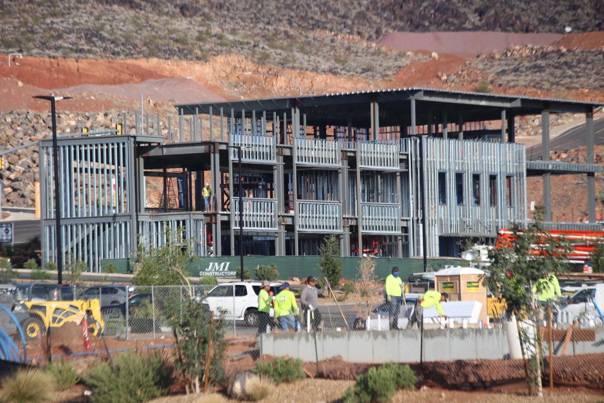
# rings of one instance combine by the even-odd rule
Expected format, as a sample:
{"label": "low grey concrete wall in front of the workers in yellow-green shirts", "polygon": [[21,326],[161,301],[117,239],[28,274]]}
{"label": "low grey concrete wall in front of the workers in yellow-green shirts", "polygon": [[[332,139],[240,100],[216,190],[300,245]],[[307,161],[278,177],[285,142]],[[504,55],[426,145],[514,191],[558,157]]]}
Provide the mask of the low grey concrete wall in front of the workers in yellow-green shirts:
{"label": "low grey concrete wall in front of the workers in yellow-green shirts", "polygon": [[[352,363],[413,363],[420,360],[420,332],[319,332],[316,349],[319,359],[341,356]],[[454,361],[504,359],[509,349],[504,329],[424,329],[423,352],[424,361]],[[604,329],[596,329],[596,341],[574,343],[574,353],[604,353]],[[315,361],[315,339],[312,333],[263,334],[260,354]],[[567,354],[573,354],[572,346]]]}

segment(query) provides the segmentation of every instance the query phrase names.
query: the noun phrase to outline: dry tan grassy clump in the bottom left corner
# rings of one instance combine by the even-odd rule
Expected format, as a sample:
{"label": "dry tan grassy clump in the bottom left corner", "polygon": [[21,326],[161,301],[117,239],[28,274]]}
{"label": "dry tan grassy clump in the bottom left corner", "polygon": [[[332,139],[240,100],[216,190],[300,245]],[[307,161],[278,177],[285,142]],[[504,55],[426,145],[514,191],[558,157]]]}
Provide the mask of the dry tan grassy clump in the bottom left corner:
{"label": "dry tan grassy clump in the bottom left corner", "polygon": [[54,392],[53,377],[40,370],[18,370],[2,379],[0,401],[6,403],[44,403]]}

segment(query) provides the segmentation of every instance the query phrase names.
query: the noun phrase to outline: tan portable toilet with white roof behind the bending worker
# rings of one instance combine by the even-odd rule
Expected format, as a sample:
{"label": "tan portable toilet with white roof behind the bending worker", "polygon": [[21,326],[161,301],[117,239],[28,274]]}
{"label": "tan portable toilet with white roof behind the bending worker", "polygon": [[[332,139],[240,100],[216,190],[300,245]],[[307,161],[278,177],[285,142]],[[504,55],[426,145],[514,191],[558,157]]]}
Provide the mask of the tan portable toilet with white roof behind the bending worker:
{"label": "tan portable toilet with white roof behind the bending worker", "polygon": [[434,288],[449,294],[449,301],[478,301],[478,319],[487,320],[487,289],[481,282],[484,271],[475,267],[445,266],[434,273]]}

